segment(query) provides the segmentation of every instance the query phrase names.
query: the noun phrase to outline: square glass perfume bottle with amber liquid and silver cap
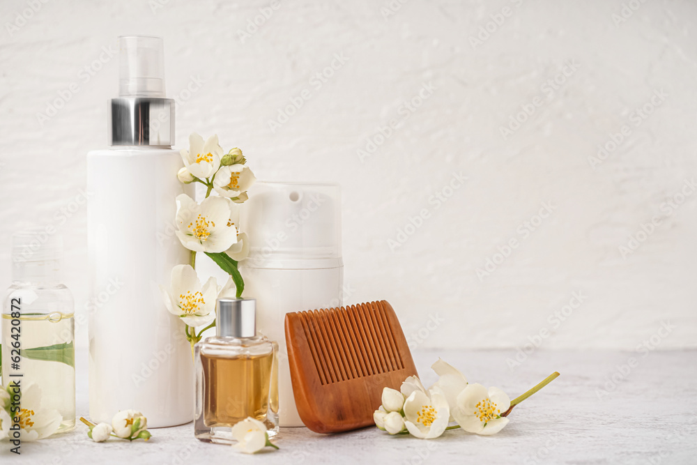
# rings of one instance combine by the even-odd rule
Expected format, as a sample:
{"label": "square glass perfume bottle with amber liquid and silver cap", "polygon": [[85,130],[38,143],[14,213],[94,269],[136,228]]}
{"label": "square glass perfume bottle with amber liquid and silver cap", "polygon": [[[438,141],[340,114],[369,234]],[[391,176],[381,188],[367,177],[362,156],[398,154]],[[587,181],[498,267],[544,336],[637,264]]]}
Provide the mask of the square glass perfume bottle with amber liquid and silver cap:
{"label": "square glass perfume bottle with amber liquid and silver cap", "polygon": [[278,432],[278,345],[256,333],[256,300],[220,298],[215,332],[195,346],[194,435],[230,444],[231,427],[247,417]]}

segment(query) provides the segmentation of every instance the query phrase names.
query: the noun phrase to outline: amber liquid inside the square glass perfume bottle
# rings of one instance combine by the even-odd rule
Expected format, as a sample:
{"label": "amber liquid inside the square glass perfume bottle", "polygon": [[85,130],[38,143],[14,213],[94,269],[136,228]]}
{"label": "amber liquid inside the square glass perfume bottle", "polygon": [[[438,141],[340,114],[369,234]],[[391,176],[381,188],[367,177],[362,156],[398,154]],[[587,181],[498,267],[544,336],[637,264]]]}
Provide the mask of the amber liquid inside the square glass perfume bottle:
{"label": "amber liquid inside the square glass perfume bottle", "polygon": [[264,420],[268,412],[273,352],[236,358],[201,353],[204,370],[204,422],[231,427],[247,417]]}

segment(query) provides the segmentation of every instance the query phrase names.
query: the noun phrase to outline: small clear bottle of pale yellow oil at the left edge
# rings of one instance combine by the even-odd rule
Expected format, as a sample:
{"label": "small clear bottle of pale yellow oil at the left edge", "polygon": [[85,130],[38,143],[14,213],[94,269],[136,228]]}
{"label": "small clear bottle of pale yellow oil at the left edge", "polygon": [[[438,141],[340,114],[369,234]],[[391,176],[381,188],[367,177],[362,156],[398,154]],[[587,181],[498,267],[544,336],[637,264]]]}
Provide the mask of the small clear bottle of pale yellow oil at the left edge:
{"label": "small clear bottle of pale yellow oil at the left edge", "polygon": [[[60,423],[56,433],[75,428],[75,304],[61,284],[63,241],[47,229],[13,235],[13,282],[2,310],[2,384],[30,390],[22,403],[27,424],[33,415]],[[31,388],[31,386],[36,386]],[[38,389],[37,389],[38,388]],[[53,430],[53,427],[49,429]]]}

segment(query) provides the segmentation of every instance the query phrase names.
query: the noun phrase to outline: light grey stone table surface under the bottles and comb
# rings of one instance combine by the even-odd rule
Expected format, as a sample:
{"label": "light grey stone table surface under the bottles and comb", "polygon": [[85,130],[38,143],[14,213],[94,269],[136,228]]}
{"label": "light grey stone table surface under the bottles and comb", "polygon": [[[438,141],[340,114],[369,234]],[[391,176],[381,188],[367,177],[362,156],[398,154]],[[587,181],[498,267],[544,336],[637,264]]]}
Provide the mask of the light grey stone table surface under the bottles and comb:
{"label": "light grey stone table surface under the bottles and comb", "polygon": [[[78,356],[78,416],[86,416],[86,353]],[[38,443],[22,455],[0,443],[0,462],[60,464],[697,464],[697,351],[535,351],[510,367],[514,351],[417,351],[424,384],[441,356],[471,382],[516,397],[555,370],[561,376],[511,413],[496,436],[461,430],[424,441],[374,428],[321,435],[283,428],[281,450],[243,455],[194,439],[192,424],[152,429],[148,443],[93,443],[86,427]],[[631,361],[629,366],[630,358]],[[83,362],[83,363],[80,363]],[[9,459],[9,460],[8,460]]]}

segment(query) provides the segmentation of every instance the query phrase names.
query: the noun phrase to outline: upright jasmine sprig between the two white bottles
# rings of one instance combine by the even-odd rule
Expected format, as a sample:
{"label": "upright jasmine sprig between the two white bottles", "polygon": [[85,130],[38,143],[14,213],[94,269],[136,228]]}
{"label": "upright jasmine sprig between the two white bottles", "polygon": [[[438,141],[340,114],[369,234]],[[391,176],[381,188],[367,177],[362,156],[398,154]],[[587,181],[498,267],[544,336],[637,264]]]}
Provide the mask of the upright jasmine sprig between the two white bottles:
{"label": "upright jasmine sprig between the two white bottles", "polygon": [[[215,326],[215,300],[218,297],[240,298],[244,281],[238,261],[249,254],[247,236],[240,233],[240,205],[249,198],[247,190],[256,178],[245,164],[242,151],[235,147],[224,154],[217,135],[204,138],[193,133],[189,149],[181,151],[184,167],[177,178],[185,184],[206,186],[206,197],[197,203],[186,194],[176,198],[175,234],[190,250],[190,265],[178,265],[172,270],[169,289],[160,286],[167,310],[185,323],[185,334],[191,344],[201,340],[201,334]],[[217,195],[211,196],[215,192]],[[221,290],[215,278],[201,284],[196,271],[196,254],[204,252],[215,264],[230,275]],[[197,326],[206,326],[198,333]]]}

